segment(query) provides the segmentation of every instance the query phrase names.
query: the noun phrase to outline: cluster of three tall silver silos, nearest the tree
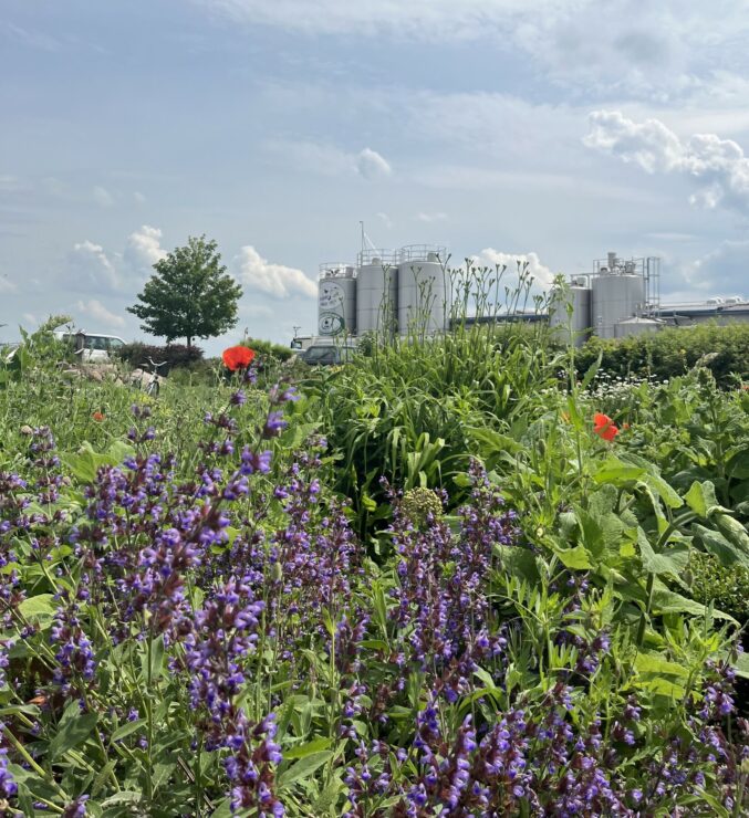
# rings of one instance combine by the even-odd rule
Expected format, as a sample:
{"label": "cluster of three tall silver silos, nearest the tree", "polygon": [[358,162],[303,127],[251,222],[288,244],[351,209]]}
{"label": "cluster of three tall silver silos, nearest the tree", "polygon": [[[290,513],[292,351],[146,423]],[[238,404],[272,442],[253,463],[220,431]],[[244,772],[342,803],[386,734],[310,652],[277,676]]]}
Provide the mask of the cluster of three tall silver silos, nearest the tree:
{"label": "cluster of three tall silver silos, nearest the tree", "polygon": [[431,335],[449,325],[451,290],[441,247],[363,250],[356,265],[321,264],[321,336]]}

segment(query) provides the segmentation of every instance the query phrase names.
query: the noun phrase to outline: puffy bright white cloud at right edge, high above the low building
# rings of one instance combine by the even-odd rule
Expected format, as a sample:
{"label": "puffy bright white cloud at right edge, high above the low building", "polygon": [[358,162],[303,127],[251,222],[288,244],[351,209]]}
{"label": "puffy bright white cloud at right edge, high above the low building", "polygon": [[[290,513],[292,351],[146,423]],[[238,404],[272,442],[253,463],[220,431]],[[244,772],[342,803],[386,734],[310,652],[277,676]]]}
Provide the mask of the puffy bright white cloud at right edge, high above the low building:
{"label": "puffy bright white cloud at right edge, high above the low building", "polygon": [[618,157],[648,174],[677,174],[696,186],[689,198],[708,209],[725,204],[749,210],[749,159],[741,146],[716,134],[695,134],[686,140],[658,119],[636,123],[620,111],[595,111],[589,148]]}

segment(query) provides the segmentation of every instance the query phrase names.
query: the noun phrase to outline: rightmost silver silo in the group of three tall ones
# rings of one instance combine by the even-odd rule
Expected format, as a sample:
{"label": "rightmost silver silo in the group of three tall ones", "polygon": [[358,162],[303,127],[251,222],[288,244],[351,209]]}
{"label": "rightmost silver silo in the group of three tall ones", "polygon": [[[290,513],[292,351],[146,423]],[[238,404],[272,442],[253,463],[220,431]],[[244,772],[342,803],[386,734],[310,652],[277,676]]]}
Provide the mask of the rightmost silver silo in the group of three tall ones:
{"label": "rightmost silver silo in the group of three tall ones", "polygon": [[398,332],[430,335],[448,328],[450,282],[444,266],[447,250],[410,244],[398,260]]}

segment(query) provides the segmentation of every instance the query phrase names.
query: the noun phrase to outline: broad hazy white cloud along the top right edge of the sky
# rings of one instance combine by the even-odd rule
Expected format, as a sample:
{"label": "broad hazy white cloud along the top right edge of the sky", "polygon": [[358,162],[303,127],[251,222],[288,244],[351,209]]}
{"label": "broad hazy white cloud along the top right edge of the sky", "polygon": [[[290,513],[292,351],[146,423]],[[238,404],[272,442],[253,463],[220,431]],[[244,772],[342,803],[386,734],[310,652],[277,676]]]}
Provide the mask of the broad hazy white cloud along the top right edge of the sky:
{"label": "broad hazy white cloud along the top right edge of the sky", "polygon": [[746,71],[746,3],[714,0],[193,0],[232,21],[308,35],[485,41],[583,93],[670,101]]}

